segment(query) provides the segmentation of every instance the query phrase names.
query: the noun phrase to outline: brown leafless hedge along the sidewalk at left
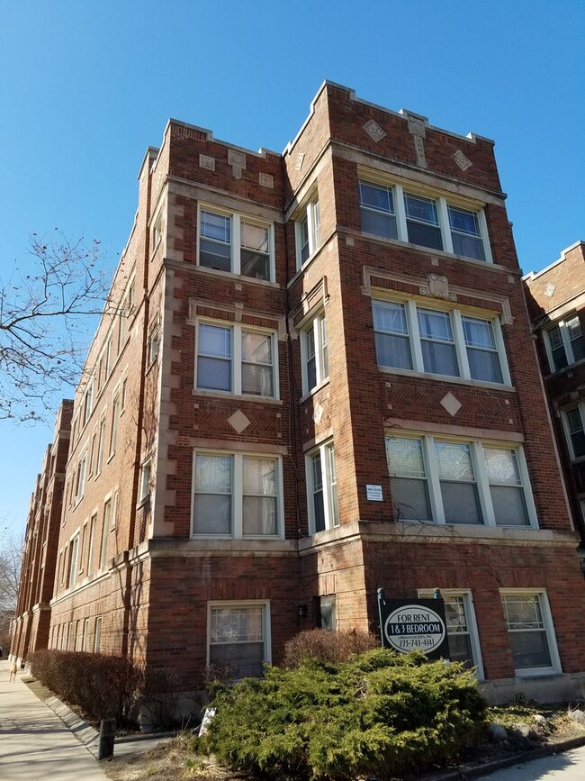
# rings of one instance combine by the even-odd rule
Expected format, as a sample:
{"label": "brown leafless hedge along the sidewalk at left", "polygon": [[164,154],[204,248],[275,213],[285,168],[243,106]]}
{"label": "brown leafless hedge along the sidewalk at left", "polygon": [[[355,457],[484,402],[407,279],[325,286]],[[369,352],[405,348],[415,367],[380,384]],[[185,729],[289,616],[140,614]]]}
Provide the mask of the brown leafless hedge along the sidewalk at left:
{"label": "brown leafless hedge along the sidewalk at left", "polygon": [[121,657],[83,651],[39,650],[29,657],[31,673],[65,702],[77,705],[92,722],[126,721],[143,675]]}

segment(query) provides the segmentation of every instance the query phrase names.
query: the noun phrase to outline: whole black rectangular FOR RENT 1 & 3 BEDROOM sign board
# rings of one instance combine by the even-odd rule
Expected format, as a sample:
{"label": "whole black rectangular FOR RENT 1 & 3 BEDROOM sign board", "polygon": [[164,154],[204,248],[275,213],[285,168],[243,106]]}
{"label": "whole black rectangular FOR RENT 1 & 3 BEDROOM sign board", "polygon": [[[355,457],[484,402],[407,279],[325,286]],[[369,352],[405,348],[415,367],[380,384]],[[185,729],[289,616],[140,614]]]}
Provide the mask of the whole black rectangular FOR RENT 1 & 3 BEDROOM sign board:
{"label": "whole black rectangular FOR RENT 1 & 3 BEDROOM sign board", "polygon": [[378,592],[382,644],[408,653],[421,650],[428,658],[449,658],[445,605],[442,599],[385,599]]}

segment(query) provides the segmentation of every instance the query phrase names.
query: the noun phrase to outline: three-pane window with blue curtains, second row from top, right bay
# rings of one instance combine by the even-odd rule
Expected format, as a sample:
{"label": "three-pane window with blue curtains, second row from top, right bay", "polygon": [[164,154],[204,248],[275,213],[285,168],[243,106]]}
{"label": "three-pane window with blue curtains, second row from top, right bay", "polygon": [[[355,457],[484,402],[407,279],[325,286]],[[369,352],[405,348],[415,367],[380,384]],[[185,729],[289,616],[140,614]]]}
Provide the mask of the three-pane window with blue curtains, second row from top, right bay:
{"label": "three-pane window with blue curtains, second row from top, right bay", "polygon": [[510,385],[497,318],[373,301],[378,366]]}

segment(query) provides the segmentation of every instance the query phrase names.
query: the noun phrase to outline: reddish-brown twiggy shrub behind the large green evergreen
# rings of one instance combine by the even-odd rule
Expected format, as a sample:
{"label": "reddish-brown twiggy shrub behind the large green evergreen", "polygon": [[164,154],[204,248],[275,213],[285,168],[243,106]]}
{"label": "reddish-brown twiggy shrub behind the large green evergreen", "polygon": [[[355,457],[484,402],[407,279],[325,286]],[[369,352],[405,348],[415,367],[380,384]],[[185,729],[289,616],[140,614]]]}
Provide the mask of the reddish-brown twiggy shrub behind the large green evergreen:
{"label": "reddish-brown twiggy shrub behind the large green evergreen", "polygon": [[298,667],[306,658],[343,662],[366,650],[379,648],[380,639],[366,631],[302,631],[284,646],[284,667]]}

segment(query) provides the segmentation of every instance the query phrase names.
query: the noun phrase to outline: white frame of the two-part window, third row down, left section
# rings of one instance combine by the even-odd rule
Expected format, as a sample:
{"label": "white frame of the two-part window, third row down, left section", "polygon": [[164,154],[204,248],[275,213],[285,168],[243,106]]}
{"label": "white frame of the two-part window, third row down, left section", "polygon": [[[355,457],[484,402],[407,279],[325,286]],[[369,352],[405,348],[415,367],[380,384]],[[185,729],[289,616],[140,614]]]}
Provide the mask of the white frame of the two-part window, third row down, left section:
{"label": "white frame of the two-part window, third row down, left section", "polygon": [[[231,459],[231,533],[210,534],[194,531],[195,525],[195,470],[197,456],[218,456]],[[276,534],[244,534],[244,459],[266,459],[275,462]],[[284,479],[283,459],[272,453],[230,452],[225,450],[193,450],[191,481],[191,537],[196,540],[284,540]]]}

